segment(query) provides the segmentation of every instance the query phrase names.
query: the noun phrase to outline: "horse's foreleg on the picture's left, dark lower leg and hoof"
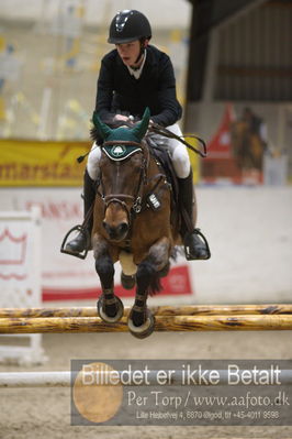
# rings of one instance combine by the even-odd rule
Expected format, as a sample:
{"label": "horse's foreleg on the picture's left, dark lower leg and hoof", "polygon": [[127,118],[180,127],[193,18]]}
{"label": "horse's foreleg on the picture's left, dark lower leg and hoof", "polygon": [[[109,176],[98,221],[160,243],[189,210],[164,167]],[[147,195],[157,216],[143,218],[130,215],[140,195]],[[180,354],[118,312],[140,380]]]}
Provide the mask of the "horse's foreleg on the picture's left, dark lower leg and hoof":
{"label": "horse's foreleg on the picture's left, dark lower leg and hoof", "polygon": [[114,295],[114,266],[111,256],[102,253],[96,257],[96,270],[100,277],[102,295],[98,300],[98,312],[102,320],[113,323],[123,317],[123,303]]}

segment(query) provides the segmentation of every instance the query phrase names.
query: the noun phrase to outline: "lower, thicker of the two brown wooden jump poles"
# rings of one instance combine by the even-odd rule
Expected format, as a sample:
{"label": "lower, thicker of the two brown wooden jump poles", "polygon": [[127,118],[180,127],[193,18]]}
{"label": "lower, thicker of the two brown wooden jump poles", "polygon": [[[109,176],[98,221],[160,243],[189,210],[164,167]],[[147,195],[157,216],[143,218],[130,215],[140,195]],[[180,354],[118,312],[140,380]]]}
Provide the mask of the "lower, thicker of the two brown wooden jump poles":
{"label": "lower, thicker of the two brown wooden jump poles", "polygon": [[[0,333],[126,332],[126,317],[105,323],[99,317],[0,318]],[[292,315],[159,316],[156,331],[292,330]]]}

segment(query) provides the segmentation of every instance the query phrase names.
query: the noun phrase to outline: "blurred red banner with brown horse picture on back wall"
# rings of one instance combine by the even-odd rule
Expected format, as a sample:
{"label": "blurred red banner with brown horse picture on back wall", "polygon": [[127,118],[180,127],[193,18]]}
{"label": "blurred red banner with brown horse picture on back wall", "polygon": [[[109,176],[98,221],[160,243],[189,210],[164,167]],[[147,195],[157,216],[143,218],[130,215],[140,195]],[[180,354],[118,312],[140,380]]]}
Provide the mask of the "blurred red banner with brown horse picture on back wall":
{"label": "blurred red banner with brown horse picture on back wall", "polygon": [[250,107],[236,116],[234,106],[226,103],[207,152],[202,163],[204,183],[262,184],[269,152],[265,120]]}

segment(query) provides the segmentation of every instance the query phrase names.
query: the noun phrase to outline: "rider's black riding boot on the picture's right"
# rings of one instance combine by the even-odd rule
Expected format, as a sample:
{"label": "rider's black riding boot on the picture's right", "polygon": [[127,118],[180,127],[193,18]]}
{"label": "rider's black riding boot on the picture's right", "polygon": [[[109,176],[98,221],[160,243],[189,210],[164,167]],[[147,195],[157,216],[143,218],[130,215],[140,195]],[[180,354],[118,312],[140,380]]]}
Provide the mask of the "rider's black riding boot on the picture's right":
{"label": "rider's black riding boot on the picture's right", "polygon": [[178,178],[179,182],[179,202],[182,210],[181,213],[181,230],[180,234],[183,239],[186,259],[193,260],[207,260],[210,249],[206,239],[193,226],[193,178],[192,169],[187,178]]}

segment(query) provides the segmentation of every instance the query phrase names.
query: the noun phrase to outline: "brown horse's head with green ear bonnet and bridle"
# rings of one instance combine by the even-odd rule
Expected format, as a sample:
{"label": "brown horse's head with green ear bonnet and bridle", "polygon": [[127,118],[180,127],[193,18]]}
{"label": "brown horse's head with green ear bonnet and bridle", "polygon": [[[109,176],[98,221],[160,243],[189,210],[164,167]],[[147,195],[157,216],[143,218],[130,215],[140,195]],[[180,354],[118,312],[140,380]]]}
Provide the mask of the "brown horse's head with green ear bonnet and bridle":
{"label": "brown horse's head with green ear bonnet and bridle", "polygon": [[133,212],[141,209],[147,160],[142,140],[148,129],[149,110],[134,128],[111,129],[97,113],[93,124],[103,139],[100,160],[101,196],[104,201],[102,226],[110,240],[127,237]]}

